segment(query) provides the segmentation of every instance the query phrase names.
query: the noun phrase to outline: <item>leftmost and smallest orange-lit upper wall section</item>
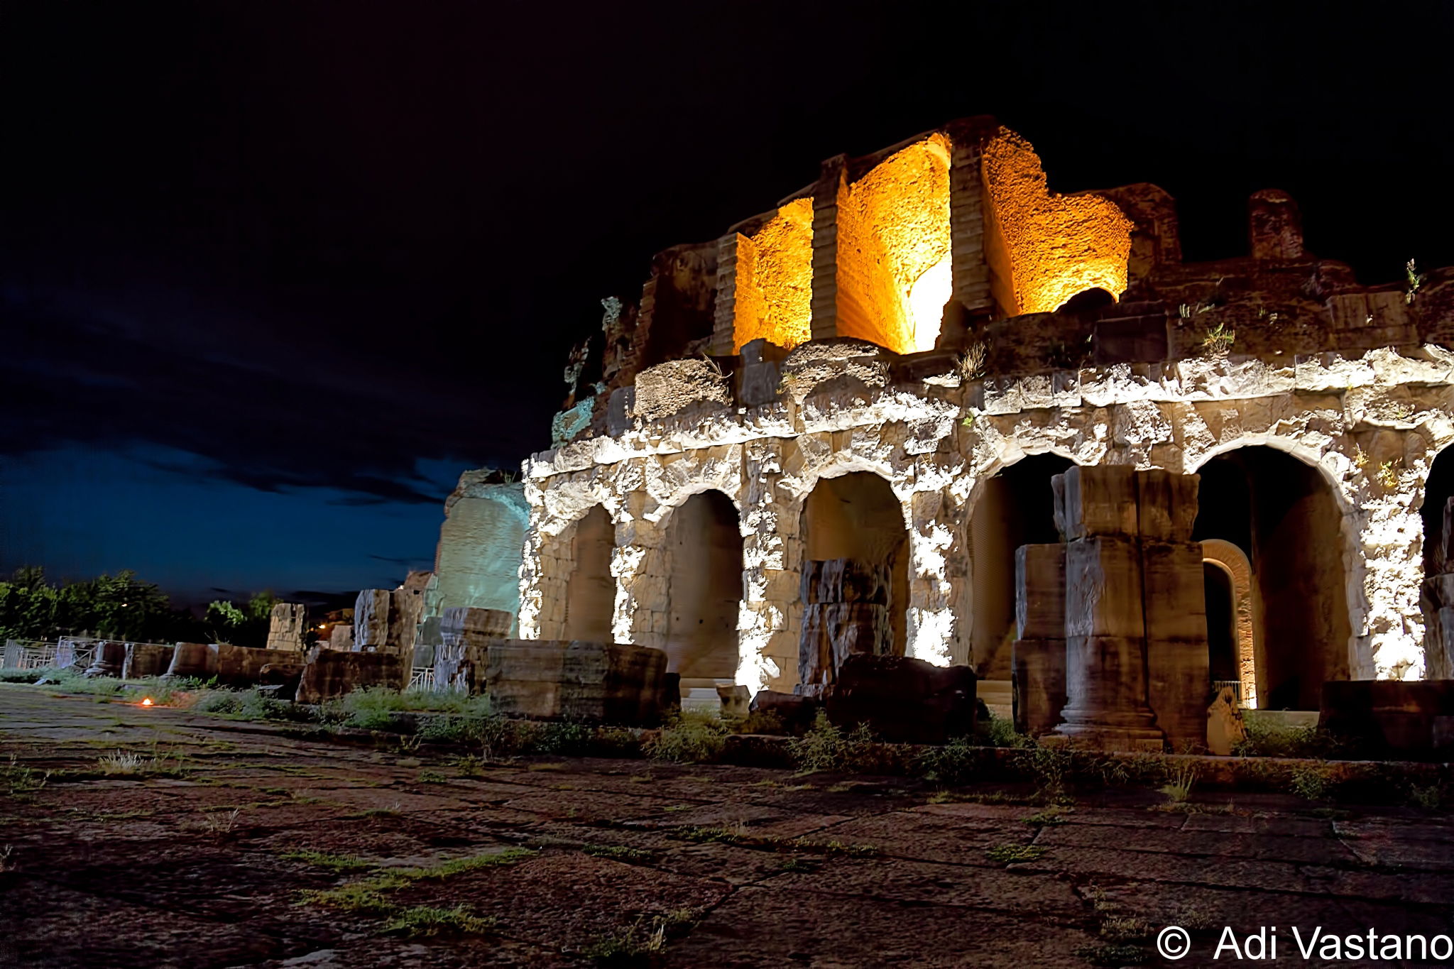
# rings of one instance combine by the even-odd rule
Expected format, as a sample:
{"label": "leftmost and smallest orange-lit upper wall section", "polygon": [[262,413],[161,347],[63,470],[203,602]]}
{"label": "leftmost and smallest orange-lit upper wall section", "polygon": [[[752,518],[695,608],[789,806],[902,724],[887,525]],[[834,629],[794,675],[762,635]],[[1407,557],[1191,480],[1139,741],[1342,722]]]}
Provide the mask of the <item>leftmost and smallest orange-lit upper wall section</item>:
{"label": "leftmost and smallest orange-lit upper wall section", "polygon": [[733,353],[766,338],[795,347],[811,338],[813,199],[794,199],[737,240]]}

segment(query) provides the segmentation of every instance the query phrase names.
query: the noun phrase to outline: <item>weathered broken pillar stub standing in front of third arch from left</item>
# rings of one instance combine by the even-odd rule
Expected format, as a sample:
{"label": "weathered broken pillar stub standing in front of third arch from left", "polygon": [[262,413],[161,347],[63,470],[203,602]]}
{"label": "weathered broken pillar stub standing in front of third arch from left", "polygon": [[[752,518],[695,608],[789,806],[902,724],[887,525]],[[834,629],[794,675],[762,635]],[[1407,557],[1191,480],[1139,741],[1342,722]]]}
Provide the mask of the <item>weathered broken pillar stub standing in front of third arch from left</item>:
{"label": "weathered broken pillar stub standing in front of third arch from left", "polygon": [[888,584],[887,562],[833,558],[804,564],[795,693],[822,693],[853,654],[893,652]]}

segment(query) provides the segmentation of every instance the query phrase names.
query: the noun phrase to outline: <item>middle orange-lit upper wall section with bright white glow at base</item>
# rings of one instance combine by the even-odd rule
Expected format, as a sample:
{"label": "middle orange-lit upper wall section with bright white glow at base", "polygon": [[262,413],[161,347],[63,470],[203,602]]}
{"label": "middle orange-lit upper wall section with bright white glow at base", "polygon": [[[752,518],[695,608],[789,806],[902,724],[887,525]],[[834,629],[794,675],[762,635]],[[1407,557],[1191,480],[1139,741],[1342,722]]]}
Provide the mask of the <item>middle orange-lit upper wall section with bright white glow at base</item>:
{"label": "middle orange-lit upper wall section with bright white glow at base", "polygon": [[932,350],[951,293],[949,144],[909,145],[838,189],[838,336]]}

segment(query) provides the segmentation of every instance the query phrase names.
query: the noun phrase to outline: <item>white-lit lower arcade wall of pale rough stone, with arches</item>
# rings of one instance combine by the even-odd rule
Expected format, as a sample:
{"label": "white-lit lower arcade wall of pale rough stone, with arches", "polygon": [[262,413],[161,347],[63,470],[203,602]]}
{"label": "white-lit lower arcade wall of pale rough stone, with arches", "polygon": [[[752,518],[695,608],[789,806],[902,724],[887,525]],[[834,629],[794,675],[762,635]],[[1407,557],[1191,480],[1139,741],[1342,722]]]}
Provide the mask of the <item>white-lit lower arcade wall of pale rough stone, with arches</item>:
{"label": "white-lit lower arcade wall of pale rough stone, with arches", "polygon": [[[791,686],[807,495],[851,471],[883,477],[909,527],[907,654],[968,660],[968,519],[979,485],[1027,453],[1076,463],[1197,471],[1246,445],[1310,465],[1338,501],[1348,673],[1423,670],[1418,504],[1432,455],[1454,443],[1454,353],[1438,347],[1287,360],[1207,357],[1043,376],[867,388],[824,379],[771,404],[638,424],[526,462],[531,538],[521,635],[553,638],[564,610],[560,536],[601,504],[615,524],[612,633],[657,645],[667,629],[666,516],[692,494],[739,507],[744,597],[737,681]],[[971,418],[965,426],[965,418]]]}

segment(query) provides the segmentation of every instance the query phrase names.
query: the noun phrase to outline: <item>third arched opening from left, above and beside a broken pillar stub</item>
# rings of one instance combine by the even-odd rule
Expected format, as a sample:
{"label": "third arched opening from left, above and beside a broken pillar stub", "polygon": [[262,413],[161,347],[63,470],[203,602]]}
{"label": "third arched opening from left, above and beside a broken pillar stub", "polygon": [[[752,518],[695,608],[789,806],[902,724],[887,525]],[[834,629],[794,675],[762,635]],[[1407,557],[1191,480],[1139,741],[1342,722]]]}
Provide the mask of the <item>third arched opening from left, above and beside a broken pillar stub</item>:
{"label": "third arched opening from left, above and beside a broken pillar stub", "polygon": [[909,641],[909,532],[888,482],[855,471],[817,482],[803,504],[804,559],[853,558],[888,564],[893,652]]}

